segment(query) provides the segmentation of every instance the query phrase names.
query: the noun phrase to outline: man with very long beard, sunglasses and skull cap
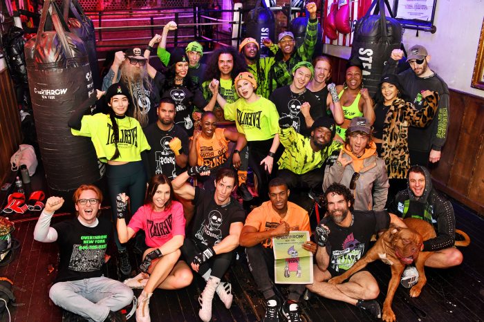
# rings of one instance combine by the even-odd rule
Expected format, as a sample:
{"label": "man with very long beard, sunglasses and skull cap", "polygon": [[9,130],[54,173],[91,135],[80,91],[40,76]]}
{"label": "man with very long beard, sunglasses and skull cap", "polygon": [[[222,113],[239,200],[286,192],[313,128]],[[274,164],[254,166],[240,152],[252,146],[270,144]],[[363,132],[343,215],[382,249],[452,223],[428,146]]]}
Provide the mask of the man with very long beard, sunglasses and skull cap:
{"label": "man with very long beard, sunglasses and skull cap", "polygon": [[[160,35],[155,35],[149,41],[148,48],[161,40]],[[118,51],[114,55],[113,65],[102,80],[102,91],[111,84],[121,82],[133,97],[132,115],[140,122],[142,127],[158,120],[156,108],[160,104],[160,88],[165,76],[159,73],[149,64],[149,49],[145,55],[141,48],[130,48],[124,52]]]}

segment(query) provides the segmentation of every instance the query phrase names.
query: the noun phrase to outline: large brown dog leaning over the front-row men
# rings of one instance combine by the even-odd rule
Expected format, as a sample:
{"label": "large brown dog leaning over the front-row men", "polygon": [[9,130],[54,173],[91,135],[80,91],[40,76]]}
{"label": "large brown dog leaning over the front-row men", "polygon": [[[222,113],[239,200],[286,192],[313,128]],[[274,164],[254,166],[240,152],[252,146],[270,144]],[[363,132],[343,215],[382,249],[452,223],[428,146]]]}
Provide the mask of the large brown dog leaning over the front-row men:
{"label": "large brown dog leaning over the front-row men", "polygon": [[383,321],[395,321],[395,313],[391,310],[393,296],[400,283],[400,277],[406,265],[415,262],[418,270],[418,283],[413,285],[410,296],[417,297],[422,291],[422,287],[427,283],[425,278],[424,263],[432,252],[420,252],[423,240],[436,237],[434,227],[428,222],[415,218],[404,219],[408,228],[390,225],[376,241],[375,245],[357,261],[353,267],[344,274],[331,278],[328,283],[339,284],[351,275],[360,271],[373,261],[380,259],[383,263],[391,265],[391,280],[388,285],[387,298],[383,303]]}

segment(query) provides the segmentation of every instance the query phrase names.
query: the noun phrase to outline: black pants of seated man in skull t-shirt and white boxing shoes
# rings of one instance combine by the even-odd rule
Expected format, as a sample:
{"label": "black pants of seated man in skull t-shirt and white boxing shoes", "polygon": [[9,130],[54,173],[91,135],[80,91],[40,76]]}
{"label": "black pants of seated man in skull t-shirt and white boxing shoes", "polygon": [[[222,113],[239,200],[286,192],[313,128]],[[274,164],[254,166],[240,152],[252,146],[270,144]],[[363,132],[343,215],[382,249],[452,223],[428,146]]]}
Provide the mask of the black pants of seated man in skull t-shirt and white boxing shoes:
{"label": "black pants of seated man in skull t-shirt and white boxing shoes", "polygon": [[[180,248],[180,250],[183,254],[183,257],[185,257],[185,261],[188,265],[190,265],[194,257],[203,252],[205,249],[198,247],[193,240],[185,238],[183,241],[183,246]],[[222,278],[225,272],[227,272],[227,269],[229,269],[230,263],[232,263],[232,258],[234,258],[233,251],[223,254],[216,254],[198,268],[198,274],[203,276],[203,274],[205,274],[209,269],[212,269],[210,276]]]}

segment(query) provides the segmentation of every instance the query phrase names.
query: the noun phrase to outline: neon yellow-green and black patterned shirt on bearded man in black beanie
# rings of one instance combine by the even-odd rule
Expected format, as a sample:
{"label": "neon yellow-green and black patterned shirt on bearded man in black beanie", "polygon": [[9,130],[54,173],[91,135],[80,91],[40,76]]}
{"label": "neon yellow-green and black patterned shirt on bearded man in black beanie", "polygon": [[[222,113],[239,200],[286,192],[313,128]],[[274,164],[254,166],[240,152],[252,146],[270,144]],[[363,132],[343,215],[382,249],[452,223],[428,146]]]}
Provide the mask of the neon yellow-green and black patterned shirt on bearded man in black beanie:
{"label": "neon yellow-green and black patterned shirt on bearded man in black beanie", "polygon": [[324,160],[342,146],[341,142],[333,141],[328,149],[325,147],[315,152],[311,148],[310,138],[297,133],[292,126],[281,129],[279,139],[286,148],[277,162],[279,169],[288,169],[296,174],[304,174],[321,167]]}

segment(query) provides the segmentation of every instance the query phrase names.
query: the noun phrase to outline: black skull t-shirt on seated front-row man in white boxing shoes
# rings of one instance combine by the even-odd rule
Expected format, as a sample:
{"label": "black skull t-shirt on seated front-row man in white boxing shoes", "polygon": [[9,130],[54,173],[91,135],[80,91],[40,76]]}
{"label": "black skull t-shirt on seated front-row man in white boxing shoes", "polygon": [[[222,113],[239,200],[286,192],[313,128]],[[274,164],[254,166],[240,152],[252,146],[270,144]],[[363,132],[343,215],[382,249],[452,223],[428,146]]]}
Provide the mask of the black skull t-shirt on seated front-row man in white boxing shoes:
{"label": "black skull t-shirt on seated front-row man in white boxing shoes", "polygon": [[217,205],[214,192],[195,188],[193,204],[196,207],[196,217],[192,239],[202,249],[213,247],[227,237],[232,222],[243,223],[245,220],[245,213],[237,200],[230,197],[228,204]]}

